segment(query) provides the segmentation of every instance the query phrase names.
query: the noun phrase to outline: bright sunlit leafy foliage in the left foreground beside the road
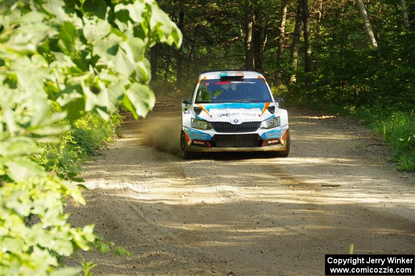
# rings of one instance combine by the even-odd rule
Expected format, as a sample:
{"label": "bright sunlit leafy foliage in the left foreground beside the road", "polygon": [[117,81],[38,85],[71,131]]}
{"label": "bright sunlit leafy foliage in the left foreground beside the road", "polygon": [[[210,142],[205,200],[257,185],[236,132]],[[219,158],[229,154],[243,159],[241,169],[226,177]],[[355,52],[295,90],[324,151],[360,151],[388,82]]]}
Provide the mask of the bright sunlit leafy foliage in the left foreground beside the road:
{"label": "bright sunlit leafy foliage in the left foreground beside the road", "polygon": [[[155,2],[120,2],[0,2],[1,274],[72,275],[62,256],[110,251],[94,225],[67,222],[66,202],[85,204],[76,158],[108,139],[119,105],[136,118],[153,107],[145,50],[181,44]],[[96,128],[90,112],[115,121]]]}

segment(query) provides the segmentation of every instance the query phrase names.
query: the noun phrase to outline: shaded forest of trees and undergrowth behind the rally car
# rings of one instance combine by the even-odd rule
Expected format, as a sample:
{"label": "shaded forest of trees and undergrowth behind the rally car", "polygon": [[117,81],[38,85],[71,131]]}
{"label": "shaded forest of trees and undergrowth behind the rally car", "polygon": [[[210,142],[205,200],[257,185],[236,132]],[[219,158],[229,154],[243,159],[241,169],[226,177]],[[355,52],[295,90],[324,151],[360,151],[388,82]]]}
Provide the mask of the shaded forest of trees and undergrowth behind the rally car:
{"label": "shaded forest of trees and undergrowth behind the rally car", "polygon": [[[358,2],[369,15],[371,29],[365,28]],[[415,170],[414,1],[159,4],[182,30],[184,42],[179,50],[161,44],[151,48],[153,80],[167,81],[186,97],[199,71],[261,71],[291,101],[372,124],[391,142],[399,169]]]}

